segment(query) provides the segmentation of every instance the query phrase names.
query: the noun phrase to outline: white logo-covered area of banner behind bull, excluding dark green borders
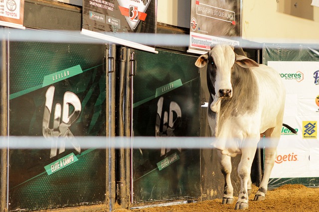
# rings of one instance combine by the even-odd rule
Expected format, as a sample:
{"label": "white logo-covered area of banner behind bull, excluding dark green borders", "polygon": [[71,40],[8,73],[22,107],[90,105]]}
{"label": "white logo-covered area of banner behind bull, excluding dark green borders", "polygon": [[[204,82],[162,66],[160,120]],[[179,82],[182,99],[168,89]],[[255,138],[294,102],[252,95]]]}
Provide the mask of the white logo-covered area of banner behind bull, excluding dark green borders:
{"label": "white logo-covered area of banner behind bull, excluding dark green borders", "polygon": [[270,178],[319,177],[319,62],[268,61],[286,85],[284,123]]}

